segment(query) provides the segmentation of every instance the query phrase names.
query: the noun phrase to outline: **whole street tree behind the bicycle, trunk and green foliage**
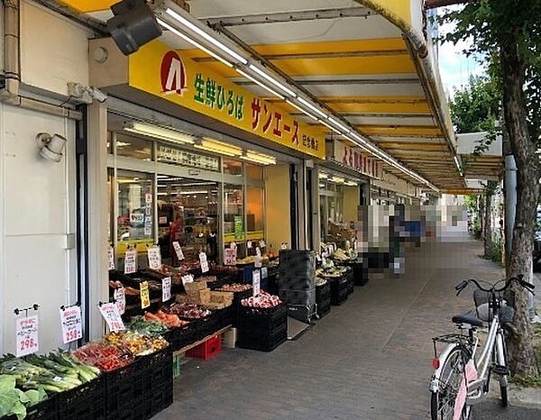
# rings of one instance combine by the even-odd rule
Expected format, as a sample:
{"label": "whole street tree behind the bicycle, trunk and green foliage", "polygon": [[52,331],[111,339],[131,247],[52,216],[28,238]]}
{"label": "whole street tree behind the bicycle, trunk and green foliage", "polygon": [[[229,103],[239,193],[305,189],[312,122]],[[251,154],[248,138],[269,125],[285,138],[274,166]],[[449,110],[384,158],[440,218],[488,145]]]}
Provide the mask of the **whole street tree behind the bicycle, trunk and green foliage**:
{"label": "whole street tree behind the bicycle, trunk and green foliage", "polygon": [[[432,3],[438,3],[434,1]],[[439,2],[444,3],[444,2]],[[464,2],[449,2],[464,3]],[[490,62],[500,79],[502,108],[511,150],[517,162],[517,209],[508,275],[531,281],[536,205],[539,196],[541,118],[541,0],[471,0],[446,10],[441,22],[454,23],[446,41],[468,40],[468,53]],[[510,325],[509,361],[518,378],[537,374],[527,292],[515,287],[515,320]]]}

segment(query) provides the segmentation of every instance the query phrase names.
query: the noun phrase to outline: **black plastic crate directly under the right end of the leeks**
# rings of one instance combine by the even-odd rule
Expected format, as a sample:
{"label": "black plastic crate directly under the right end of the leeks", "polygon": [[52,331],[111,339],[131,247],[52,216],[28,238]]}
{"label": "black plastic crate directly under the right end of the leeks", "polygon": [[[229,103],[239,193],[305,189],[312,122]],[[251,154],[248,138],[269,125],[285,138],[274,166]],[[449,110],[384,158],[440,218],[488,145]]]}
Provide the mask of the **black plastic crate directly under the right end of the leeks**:
{"label": "black plastic crate directly under the right end of the leeks", "polygon": [[105,420],[105,375],[58,394],[59,420]]}

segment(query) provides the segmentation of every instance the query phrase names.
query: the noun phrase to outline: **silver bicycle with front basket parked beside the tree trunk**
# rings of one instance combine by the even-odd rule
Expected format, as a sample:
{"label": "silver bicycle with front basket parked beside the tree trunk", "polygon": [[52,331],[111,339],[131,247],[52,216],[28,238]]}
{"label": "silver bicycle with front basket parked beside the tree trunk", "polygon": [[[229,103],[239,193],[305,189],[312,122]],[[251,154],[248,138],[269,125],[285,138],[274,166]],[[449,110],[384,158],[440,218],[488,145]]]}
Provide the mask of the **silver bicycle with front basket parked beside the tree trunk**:
{"label": "silver bicycle with front basket parked beside the tree trunk", "polygon": [[[472,406],[481,402],[489,392],[491,373],[500,377],[500,397],[502,406],[508,405],[507,352],[502,324],[512,322],[514,310],[503,298],[513,282],[518,283],[533,294],[534,285],[527,283],[519,275],[516,278],[500,280],[490,287],[482,288],[475,279],[463,280],[455,287],[456,296],[473,283],[477,290],[473,294],[475,311],[452,318],[460,333],[446,334],[432,339],[435,359],[434,374],[430,382],[430,414],[432,420],[468,420]],[[502,288],[497,288],[505,281]],[[490,323],[487,339],[481,354],[478,328],[483,322]],[[464,333],[467,331],[467,333]],[[438,356],[437,343],[446,344]]]}

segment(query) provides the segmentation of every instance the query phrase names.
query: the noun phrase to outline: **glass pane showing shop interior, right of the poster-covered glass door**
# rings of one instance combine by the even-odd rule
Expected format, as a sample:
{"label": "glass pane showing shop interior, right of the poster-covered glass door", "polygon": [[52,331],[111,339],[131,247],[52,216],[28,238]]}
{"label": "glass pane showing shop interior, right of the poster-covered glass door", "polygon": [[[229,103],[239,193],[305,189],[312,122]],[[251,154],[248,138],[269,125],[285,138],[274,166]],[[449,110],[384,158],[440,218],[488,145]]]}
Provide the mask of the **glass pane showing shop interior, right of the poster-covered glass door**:
{"label": "glass pane showing shop interior, right of the poster-covered glass door", "polygon": [[[205,252],[218,258],[218,184],[158,175],[158,229],[161,257],[176,263],[173,242],[187,260]],[[168,261],[169,260],[169,261]]]}

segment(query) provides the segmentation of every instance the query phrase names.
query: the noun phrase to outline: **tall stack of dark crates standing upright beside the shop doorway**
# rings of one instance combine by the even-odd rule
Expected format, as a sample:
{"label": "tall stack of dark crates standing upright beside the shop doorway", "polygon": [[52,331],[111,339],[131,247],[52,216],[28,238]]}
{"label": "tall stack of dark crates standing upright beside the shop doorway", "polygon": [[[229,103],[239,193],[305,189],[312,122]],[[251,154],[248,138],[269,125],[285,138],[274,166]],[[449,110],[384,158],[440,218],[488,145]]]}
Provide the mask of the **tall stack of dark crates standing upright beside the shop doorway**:
{"label": "tall stack of dark crates standing upright beside the shop doorway", "polygon": [[316,309],[316,253],[280,251],[280,299],[289,306],[289,315],[309,322]]}

